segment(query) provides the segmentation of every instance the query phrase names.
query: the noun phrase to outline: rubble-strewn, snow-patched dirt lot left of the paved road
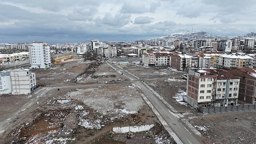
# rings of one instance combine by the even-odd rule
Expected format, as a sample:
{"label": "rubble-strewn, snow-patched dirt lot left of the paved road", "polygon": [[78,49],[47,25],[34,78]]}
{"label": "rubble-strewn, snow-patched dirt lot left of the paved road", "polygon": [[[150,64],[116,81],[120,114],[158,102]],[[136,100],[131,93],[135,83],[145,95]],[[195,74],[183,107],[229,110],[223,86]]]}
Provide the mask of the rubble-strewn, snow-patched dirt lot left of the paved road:
{"label": "rubble-strewn, snow-patched dirt lot left of the paved road", "polygon": [[[4,143],[172,143],[171,136],[142,99],[141,91],[105,62],[84,62],[80,57],[73,57],[53,65],[53,70],[33,71],[37,84],[43,86],[38,93],[19,95],[19,99],[17,95],[0,98],[18,104],[35,95],[45,95],[45,91],[50,93],[46,94],[45,101],[39,101],[35,110],[24,110],[31,113],[20,118],[19,125],[9,134],[5,132],[8,135]],[[8,108],[7,104],[5,106]],[[9,106],[8,109],[12,108],[15,111],[16,107]],[[112,131],[113,127],[148,124],[155,126],[150,131],[134,132],[131,136]]]}

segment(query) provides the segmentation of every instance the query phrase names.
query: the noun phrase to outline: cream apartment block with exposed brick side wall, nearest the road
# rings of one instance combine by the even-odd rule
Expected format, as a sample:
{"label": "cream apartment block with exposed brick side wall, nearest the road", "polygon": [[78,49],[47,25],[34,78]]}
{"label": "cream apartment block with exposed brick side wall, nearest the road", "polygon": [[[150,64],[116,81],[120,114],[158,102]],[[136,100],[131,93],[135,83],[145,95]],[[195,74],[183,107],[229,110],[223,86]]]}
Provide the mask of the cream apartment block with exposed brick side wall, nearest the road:
{"label": "cream apartment block with exposed brick side wall, nearest the road", "polygon": [[213,83],[217,75],[211,74],[210,69],[189,69],[187,79],[187,102],[193,108],[209,108],[214,106]]}

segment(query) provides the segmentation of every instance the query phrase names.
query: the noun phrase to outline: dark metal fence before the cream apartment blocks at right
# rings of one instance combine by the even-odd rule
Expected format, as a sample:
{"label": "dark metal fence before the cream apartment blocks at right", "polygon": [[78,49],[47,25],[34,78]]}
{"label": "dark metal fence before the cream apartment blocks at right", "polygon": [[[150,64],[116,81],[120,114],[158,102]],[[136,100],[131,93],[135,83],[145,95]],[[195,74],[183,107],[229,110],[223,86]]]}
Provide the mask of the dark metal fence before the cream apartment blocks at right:
{"label": "dark metal fence before the cream apartment blocks at right", "polygon": [[199,108],[200,112],[205,113],[222,113],[222,112],[234,112],[234,111],[245,111],[245,110],[256,110],[256,104],[250,105],[237,105],[237,106],[225,106],[225,107],[214,107],[214,108]]}

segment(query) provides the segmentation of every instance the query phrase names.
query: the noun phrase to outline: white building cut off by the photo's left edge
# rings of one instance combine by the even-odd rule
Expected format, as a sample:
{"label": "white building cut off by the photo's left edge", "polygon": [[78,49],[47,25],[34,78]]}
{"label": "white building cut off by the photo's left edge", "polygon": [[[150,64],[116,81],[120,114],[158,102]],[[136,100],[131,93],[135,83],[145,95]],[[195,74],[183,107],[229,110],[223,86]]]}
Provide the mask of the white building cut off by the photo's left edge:
{"label": "white building cut off by the photo's left edge", "polygon": [[9,94],[12,92],[12,86],[10,83],[10,72],[0,73],[0,95]]}

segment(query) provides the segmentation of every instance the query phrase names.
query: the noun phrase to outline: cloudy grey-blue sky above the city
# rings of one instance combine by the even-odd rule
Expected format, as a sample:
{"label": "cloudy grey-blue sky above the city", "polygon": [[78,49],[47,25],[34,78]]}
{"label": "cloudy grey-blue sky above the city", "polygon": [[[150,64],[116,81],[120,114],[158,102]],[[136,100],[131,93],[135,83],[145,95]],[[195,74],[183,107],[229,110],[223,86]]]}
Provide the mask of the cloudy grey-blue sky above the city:
{"label": "cloudy grey-blue sky above the city", "polygon": [[181,29],[256,32],[254,0],[0,0],[0,43],[135,41]]}

